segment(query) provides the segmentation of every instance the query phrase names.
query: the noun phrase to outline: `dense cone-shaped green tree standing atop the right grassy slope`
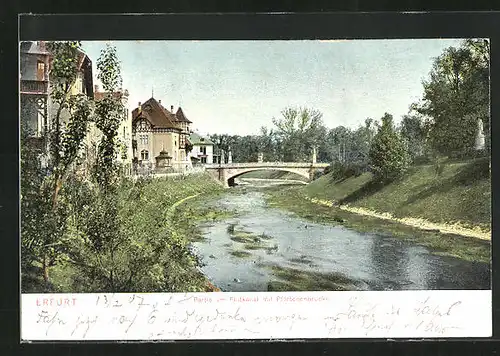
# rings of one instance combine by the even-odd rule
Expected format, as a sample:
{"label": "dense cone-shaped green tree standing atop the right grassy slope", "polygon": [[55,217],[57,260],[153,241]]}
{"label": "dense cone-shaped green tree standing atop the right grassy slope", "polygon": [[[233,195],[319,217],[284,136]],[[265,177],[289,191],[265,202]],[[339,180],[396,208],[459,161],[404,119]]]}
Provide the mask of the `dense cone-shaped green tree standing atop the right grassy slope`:
{"label": "dense cone-shaped green tree standing atop the right grassy slope", "polygon": [[389,181],[403,174],[410,157],[401,137],[396,133],[392,115],[386,113],[370,148],[370,162],[375,178]]}

